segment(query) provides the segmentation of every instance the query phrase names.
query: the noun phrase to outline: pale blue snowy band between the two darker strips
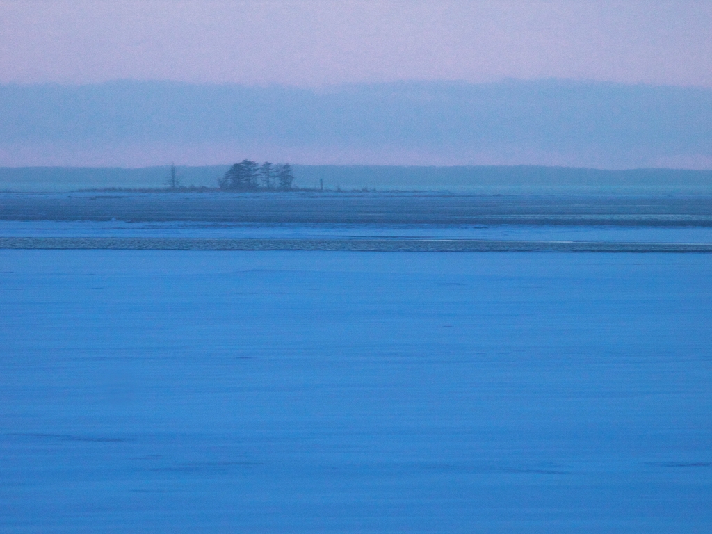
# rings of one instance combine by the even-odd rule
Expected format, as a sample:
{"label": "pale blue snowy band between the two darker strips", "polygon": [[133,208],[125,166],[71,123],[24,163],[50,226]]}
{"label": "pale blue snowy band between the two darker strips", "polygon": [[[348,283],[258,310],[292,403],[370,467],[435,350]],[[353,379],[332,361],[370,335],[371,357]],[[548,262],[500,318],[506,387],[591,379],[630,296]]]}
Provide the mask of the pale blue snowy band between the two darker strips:
{"label": "pale blue snowy band between the two darker strips", "polygon": [[712,226],[490,226],[436,224],[219,224],[203,222],[1,221],[1,237],[190,237],[233,239],[495,239],[712,243]]}

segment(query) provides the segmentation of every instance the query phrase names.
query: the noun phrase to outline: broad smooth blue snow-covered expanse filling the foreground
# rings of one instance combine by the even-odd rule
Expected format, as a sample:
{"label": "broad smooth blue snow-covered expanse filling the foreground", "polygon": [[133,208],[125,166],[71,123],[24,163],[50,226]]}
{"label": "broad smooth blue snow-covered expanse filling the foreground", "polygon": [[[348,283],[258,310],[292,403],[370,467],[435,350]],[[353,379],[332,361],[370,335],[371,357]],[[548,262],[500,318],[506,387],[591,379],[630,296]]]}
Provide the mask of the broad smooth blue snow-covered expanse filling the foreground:
{"label": "broad smooth blue snow-covered expanse filling the foreground", "polygon": [[712,531],[710,255],[0,271],[2,533]]}

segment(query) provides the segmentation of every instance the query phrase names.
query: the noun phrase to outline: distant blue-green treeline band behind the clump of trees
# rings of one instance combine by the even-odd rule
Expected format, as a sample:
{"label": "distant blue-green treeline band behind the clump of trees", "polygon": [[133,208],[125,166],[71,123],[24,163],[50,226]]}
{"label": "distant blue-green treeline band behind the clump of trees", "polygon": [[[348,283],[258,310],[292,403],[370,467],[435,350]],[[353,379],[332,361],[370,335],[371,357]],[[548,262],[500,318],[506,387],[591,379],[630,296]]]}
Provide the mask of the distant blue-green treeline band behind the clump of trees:
{"label": "distant blue-green treeline band behind the clump of trees", "polygon": [[[278,167],[270,186],[279,190]],[[712,170],[573,169],[568,167],[291,166],[299,189],[325,191],[449,191],[473,194],[604,194],[712,196]],[[89,189],[214,190],[231,165],[205,167],[0,167],[0,191],[67,192]],[[253,191],[261,180],[250,179]],[[323,187],[322,187],[323,184]],[[231,182],[225,183],[230,187]],[[286,186],[287,184],[285,184]],[[292,190],[298,189],[292,184]],[[250,189],[248,189],[250,190]],[[2,209],[0,208],[0,213]]]}

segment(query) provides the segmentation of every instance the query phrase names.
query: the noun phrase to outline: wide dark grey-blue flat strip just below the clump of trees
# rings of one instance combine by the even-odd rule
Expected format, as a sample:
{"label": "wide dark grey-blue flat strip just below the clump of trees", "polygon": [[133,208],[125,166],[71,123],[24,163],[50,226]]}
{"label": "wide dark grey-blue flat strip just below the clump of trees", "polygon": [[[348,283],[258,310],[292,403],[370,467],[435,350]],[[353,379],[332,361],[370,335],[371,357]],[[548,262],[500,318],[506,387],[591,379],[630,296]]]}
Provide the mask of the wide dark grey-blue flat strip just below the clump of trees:
{"label": "wide dark grey-blue flat strip just below the clump of trees", "polygon": [[438,193],[0,194],[0,220],[712,226],[712,197]]}

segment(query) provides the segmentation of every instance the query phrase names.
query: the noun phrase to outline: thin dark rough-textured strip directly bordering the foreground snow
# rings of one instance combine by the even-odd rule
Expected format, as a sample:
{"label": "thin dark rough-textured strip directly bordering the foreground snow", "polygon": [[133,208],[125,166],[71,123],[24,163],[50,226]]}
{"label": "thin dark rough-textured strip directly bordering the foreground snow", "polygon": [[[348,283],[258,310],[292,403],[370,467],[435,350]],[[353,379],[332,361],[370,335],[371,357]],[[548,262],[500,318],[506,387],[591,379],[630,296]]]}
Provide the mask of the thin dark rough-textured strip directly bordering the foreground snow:
{"label": "thin dark rough-textured strip directly bordering the foreground snow", "polygon": [[147,237],[0,237],[0,248],[160,251],[354,252],[663,252],[712,253],[712,243],[489,241],[475,239],[205,239]]}

